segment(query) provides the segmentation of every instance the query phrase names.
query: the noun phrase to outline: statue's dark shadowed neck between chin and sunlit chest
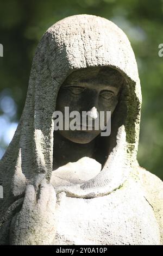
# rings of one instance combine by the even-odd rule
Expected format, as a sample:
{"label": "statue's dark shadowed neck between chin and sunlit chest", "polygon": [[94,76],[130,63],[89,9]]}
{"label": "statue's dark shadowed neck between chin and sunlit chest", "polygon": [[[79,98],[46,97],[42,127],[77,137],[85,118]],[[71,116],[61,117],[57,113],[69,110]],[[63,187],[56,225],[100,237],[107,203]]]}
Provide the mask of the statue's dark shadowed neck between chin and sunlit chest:
{"label": "statue's dark shadowed neck between chin and sunlit chest", "polygon": [[54,131],[53,170],[68,162],[76,162],[84,156],[92,157],[95,151],[95,139],[87,144],[69,141]]}

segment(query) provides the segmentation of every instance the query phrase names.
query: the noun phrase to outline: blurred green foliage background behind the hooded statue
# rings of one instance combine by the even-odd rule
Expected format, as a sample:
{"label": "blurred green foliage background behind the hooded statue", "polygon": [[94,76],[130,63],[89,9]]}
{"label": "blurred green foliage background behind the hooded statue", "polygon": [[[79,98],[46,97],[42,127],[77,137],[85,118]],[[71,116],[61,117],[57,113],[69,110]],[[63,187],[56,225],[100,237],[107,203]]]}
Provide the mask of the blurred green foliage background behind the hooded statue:
{"label": "blurred green foliage background behind the hooded statue", "polygon": [[134,49],[142,87],[138,160],[163,180],[163,44],[162,0],[1,0],[0,158],[20,119],[36,45],[56,21],[75,14],[92,14],[116,23]]}

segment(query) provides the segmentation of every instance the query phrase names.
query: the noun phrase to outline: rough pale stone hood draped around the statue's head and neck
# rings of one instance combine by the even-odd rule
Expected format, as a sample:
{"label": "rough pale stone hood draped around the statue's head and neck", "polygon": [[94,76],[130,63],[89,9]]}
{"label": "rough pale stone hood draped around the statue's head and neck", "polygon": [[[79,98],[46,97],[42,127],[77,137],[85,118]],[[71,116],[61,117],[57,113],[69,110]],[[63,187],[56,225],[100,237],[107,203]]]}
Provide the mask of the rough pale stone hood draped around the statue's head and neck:
{"label": "rough pale stone hood draped around the statue's head and neck", "polygon": [[[127,36],[102,17],[67,17],[43,35],[32,64],[26,104],[5,155],[0,162],[4,189],[1,212],[24,192],[37,174],[49,181],[53,166],[52,118],[58,90],[71,72],[110,66],[126,78],[121,101],[112,120],[108,158],[101,172],[83,184],[59,187],[71,197],[91,198],[116,190],[137,166],[141,89],[137,65]],[[55,145],[54,145],[55,150]],[[55,154],[55,152],[54,152]]]}

